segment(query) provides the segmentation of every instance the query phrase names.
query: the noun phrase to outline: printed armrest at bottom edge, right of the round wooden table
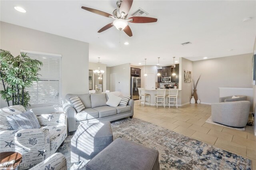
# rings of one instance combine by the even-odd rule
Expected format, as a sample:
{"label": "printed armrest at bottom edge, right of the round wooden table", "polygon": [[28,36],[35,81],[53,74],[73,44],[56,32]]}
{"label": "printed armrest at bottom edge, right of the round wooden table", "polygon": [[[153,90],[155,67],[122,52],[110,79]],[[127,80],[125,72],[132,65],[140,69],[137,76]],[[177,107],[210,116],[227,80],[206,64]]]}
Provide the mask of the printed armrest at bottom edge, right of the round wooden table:
{"label": "printed armrest at bottom edge, right of the round wooden table", "polygon": [[61,153],[55,153],[30,170],[67,170],[67,160]]}

